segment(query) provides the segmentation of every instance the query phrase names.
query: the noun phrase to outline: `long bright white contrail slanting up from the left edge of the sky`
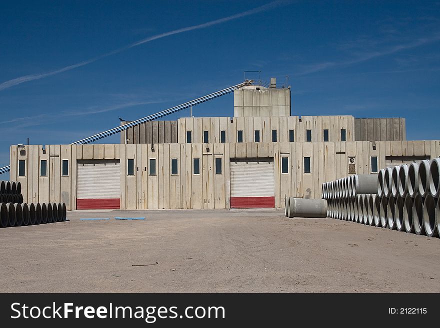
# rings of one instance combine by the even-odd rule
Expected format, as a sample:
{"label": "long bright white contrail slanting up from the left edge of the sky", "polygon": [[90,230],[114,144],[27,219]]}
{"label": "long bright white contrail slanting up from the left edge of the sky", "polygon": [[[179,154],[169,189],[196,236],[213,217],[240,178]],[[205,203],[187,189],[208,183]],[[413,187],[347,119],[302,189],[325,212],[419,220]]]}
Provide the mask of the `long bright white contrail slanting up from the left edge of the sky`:
{"label": "long bright white contrail slanting up from the left edge of the sky", "polygon": [[147,43],[147,42],[150,42],[150,41],[153,41],[153,40],[156,40],[156,39],[160,39],[162,37],[166,37],[166,36],[170,36],[170,35],[174,35],[174,34],[179,34],[179,33],[183,33],[183,32],[188,32],[188,31],[192,31],[194,29],[206,28],[206,27],[209,27],[209,26],[212,26],[212,25],[216,25],[216,24],[221,24],[221,23],[224,23],[224,22],[229,21],[229,20],[233,20],[233,19],[244,17],[244,16],[252,15],[252,14],[255,14],[255,13],[258,13],[258,12],[261,12],[261,11],[266,11],[266,10],[275,8],[277,6],[287,4],[289,2],[291,2],[291,1],[276,0],[276,1],[272,1],[272,2],[269,2],[269,3],[263,4],[263,5],[259,6],[259,7],[256,7],[256,8],[253,8],[253,9],[249,9],[249,10],[246,10],[246,11],[243,11],[243,12],[231,15],[231,16],[227,16],[227,17],[211,20],[211,21],[208,21],[206,23],[202,23],[202,24],[198,24],[198,25],[192,25],[192,26],[187,26],[187,27],[182,27],[182,28],[179,28],[179,29],[175,29],[173,31],[169,31],[169,32],[165,32],[165,33],[149,36],[149,37],[144,38],[142,40],[139,40],[137,42],[134,42],[134,43],[131,43],[129,45],[126,45],[126,46],[124,46],[122,48],[118,48],[116,50],[104,53],[104,54],[102,54],[100,56],[97,56],[97,57],[94,57],[94,58],[91,58],[91,59],[88,59],[88,60],[81,61],[81,62],[73,64],[73,65],[69,65],[69,66],[66,66],[66,67],[63,67],[63,68],[60,68],[60,69],[56,69],[56,70],[53,70],[53,71],[50,71],[50,72],[46,72],[46,73],[24,75],[24,76],[20,76],[20,77],[17,77],[17,78],[13,78],[13,79],[8,80],[8,81],[4,81],[4,82],[2,82],[0,84],[0,91],[4,90],[4,89],[7,89],[7,88],[10,88],[11,86],[24,83],[24,82],[38,80],[38,79],[43,78],[43,77],[59,74],[59,73],[65,72],[67,70],[71,70],[71,69],[74,69],[74,68],[77,68],[77,67],[84,66],[84,65],[90,64],[90,63],[92,63],[92,62],[94,62],[96,60],[99,60],[101,58],[113,55],[113,54],[118,53],[118,52],[122,52],[124,50],[129,49],[129,48],[141,45],[143,43]]}

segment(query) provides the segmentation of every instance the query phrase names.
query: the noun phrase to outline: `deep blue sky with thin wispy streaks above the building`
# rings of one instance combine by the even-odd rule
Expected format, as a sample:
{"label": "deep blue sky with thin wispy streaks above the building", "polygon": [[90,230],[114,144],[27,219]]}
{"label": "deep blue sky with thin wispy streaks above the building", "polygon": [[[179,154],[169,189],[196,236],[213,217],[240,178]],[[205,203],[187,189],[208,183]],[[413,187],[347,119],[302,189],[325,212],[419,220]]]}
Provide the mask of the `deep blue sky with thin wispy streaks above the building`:
{"label": "deep blue sky with thin wispy streaks above the building", "polygon": [[[403,116],[408,139],[440,139],[440,1],[14,0],[0,30],[0,166],[27,137],[70,143],[243,70],[288,75],[293,115]],[[193,115],[232,116],[232,100]]]}

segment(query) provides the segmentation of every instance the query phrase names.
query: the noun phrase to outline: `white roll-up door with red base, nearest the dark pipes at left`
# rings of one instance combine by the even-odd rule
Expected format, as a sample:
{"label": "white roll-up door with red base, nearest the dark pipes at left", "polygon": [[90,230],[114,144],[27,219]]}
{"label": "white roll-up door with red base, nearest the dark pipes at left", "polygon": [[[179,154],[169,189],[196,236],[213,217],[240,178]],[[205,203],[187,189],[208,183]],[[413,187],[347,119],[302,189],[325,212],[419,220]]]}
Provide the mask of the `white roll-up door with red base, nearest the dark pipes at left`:
{"label": "white roll-up door with red base, nearest the dark pipes at left", "polygon": [[120,208],[119,160],[77,161],[76,209]]}

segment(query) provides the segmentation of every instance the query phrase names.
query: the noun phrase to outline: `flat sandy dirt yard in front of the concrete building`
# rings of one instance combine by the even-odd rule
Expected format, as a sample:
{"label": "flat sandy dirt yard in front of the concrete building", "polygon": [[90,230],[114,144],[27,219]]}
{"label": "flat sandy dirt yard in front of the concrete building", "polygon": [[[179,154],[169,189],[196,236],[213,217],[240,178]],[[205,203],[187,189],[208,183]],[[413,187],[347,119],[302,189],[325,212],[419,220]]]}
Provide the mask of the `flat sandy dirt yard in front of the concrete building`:
{"label": "flat sandy dirt yard in front of the concrete building", "polygon": [[438,238],[283,214],[72,211],[3,228],[0,292],[440,292]]}

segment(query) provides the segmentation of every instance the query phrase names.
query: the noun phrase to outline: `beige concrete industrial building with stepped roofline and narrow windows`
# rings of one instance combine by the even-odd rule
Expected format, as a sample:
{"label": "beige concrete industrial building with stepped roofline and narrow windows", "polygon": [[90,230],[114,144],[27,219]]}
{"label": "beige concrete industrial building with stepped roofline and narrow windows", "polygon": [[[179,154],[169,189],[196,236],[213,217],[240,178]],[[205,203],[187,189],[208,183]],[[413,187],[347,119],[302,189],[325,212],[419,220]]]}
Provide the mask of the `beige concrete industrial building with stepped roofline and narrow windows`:
{"label": "beige concrete industrial building with stepped roofline and narrow windows", "polygon": [[236,90],[233,117],[142,123],[120,144],[12,145],[10,178],[28,203],[68,209],[282,207],[319,198],[325,181],[440,154],[439,141],[406,141],[402,118],[290,116],[290,89],[271,85]]}

